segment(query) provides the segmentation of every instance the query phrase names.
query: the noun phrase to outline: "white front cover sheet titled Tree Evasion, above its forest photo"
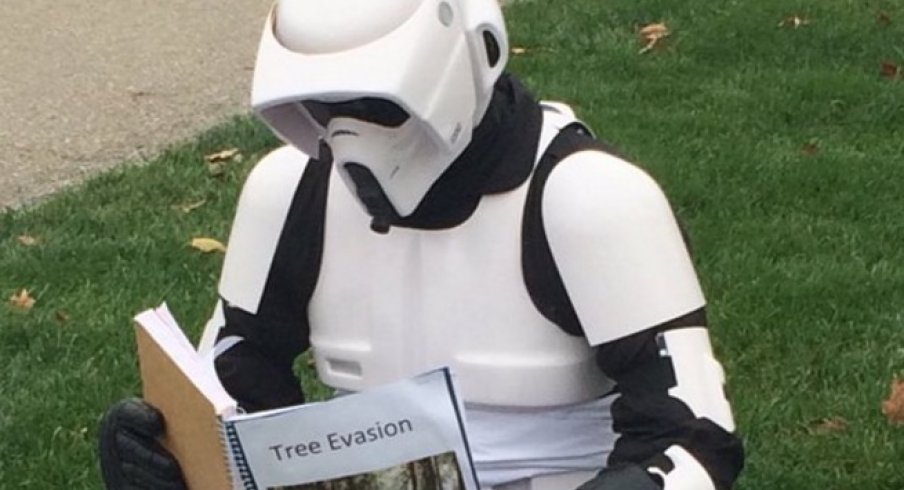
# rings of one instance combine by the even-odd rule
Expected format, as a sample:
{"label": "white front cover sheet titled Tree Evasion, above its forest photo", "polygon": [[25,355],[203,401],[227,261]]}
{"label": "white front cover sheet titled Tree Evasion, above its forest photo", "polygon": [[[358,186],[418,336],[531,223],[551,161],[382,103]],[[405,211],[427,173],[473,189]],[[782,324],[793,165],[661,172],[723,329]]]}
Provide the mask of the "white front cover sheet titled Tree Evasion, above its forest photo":
{"label": "white front cover sheet titled Tree Evasion, above its forest photo", "polygon": [[444,474],[451,471],[449,461],[461,467],[450,490],[477,490],[448,376],[445,369],[432,371],[327,402],[231,417],[227,423],[233,424],[262,490],[391,468],[398,472],[400,465],[437,455],[443,455],[434,461],[442,461]]}

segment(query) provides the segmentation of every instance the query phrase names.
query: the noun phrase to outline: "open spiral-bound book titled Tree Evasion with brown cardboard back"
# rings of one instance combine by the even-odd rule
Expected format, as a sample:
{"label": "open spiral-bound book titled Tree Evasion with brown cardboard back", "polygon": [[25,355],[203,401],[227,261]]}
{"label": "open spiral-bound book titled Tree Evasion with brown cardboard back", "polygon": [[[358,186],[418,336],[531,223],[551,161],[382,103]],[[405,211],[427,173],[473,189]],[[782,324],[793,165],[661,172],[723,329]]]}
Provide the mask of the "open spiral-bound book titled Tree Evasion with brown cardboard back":
{"label": "open spiral-bound book titled Tree Evasion with brown cardboard back", "polygon": [[144,397],[190,490],[478,490],[448,368],[243,414],[165,305],[135,320]]}

